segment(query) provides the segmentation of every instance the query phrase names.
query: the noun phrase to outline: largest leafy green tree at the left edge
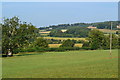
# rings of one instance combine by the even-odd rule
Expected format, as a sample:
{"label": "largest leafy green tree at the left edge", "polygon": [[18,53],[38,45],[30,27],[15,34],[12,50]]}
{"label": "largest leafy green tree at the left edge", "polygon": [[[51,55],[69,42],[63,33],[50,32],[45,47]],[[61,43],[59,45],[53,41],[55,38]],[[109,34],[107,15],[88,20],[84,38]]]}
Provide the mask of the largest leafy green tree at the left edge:
{"label": "largest leafy green tree at the left edge", "polygon": [[27,47],[37,36],[32,24],[21,23],[18,17],[4,19],[2,24],[2,53],[13,55],[21,47]]}

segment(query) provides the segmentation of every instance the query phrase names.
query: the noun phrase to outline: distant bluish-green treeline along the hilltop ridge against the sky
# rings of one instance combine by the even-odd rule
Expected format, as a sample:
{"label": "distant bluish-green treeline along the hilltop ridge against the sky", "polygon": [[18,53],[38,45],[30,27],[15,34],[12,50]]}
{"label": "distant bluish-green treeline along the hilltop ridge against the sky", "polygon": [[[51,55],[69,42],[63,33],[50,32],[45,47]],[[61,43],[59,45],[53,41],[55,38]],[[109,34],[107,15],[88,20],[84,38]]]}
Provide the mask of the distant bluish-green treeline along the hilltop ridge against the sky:
{"label": "distant bluish-green treeline along the hilltop ridge against the sky", "polygon": [[74,23],[74,24],[58,24],[58,25],[51,25],[48,27],[40,27],[40,30],[47,30],[49,31],[49,28],[52,29],[68,29],[70,27],[88,27],[88,26],[95,26],[98,29],[110,29],[111,22],[113,22],[113,29],[117,29],[116,26],[120,24],[119,21],[105,21],[105,22],[96,22],[96,23]]}

